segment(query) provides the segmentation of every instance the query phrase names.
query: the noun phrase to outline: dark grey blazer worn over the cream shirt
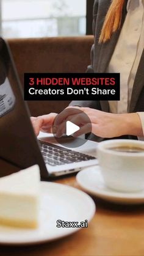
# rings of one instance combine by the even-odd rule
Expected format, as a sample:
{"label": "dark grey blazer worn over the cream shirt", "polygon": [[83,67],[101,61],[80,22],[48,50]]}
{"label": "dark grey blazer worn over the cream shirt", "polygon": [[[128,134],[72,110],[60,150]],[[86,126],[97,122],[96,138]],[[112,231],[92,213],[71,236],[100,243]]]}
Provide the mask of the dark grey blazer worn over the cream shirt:
{"label": "dark grey blazer worn over the cream shirt", "polygon": [[[110,0],[95,0],[93,6],[93,34],[95,36],[95,43],[92,46],[91,65],[89,65],[87,68],[88,73],[106,72],[115,46],[117,45],[121,27],[123,26],[124,20],[126,18],[126,6],[128,0],[126,0],[124,3],[120,29],[113,33],[109,41],[99,44],[99,35],[101,34],[101,29],[103,27],[107,10],[110,6],[110,2]],[[71,106],[85,106],[88,108],[109,112],[108,101],[72,101]],[[129,112],[144,112],[144,50],[140,59],[137,74],[135,76]],[[102,139],[96,137],[96,140],[101,141]]]}

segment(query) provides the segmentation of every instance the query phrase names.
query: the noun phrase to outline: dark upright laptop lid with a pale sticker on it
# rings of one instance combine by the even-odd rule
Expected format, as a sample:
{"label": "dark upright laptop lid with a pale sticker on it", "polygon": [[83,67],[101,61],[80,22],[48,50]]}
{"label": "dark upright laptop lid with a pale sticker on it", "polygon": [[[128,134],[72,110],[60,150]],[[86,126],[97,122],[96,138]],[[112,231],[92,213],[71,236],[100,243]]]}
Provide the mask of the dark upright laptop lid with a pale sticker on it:
{"label": "dark upright laptop lid with a pale sticker on it", "polygon": [[38,164],[48,174],[29,116],[9,46],[0,38],[0,159],[20,169]]}

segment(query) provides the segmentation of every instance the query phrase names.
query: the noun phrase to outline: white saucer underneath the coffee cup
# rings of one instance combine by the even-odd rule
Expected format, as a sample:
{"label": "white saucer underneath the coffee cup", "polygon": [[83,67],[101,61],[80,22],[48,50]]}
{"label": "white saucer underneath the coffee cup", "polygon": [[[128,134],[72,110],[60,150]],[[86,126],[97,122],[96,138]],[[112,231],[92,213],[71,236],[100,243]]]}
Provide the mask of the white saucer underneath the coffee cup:
{"label": "white saucer underneath the coffee cup", "polygon": [[92,166],[82,170],[77,174],[76,180],[86,192],[101,199],[120,204],[144,203],[144,191],[126,193],[107,188],[99,166]]}

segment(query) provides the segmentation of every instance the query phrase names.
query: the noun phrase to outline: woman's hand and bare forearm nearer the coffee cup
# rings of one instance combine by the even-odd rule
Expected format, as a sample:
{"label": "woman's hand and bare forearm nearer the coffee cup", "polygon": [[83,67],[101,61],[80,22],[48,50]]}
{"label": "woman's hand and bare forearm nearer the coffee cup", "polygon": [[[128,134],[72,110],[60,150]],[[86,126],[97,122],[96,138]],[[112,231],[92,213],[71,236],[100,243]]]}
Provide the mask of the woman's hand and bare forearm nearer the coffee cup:
{"label": "woman's hand and bare forearm nearer the coffee cup", "polygon": [[[70,108],[70,113],[67,111],[62,111],[57,117],[56,126],[57,136],[59,137],[65,132],[65,122],[63,122],[63,120],[69,120],[81,127],[80,130],[74,134],[74,136],[80,136],[81,134],[88,133],[90,132],[90,128],[92,128],[92,133],[99,137],[111,138],[127,134],[143,136],[142,123],[137,113],[111,114],[91,108],[68,108]],[[90,123],[84,123],[82,114],[75,114],[75,109],[79,109],[87,114],[92,126]]]}

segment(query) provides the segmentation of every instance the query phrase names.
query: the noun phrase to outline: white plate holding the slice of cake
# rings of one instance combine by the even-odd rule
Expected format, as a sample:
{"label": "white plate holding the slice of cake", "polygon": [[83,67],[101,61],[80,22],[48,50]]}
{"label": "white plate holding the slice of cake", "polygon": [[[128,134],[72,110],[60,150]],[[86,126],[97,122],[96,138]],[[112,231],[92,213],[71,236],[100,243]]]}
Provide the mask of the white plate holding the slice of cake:
{"label": "white plate holding the slice of cake", "polygon": [[57,220],[89,222],[94,214],[95,203],[84,192],[70,186],[41,182],[38,229],[0,226],[0,244],[35,244],[56,240],[80,230],[79,228],[57,228]]}

